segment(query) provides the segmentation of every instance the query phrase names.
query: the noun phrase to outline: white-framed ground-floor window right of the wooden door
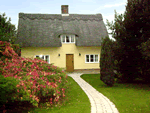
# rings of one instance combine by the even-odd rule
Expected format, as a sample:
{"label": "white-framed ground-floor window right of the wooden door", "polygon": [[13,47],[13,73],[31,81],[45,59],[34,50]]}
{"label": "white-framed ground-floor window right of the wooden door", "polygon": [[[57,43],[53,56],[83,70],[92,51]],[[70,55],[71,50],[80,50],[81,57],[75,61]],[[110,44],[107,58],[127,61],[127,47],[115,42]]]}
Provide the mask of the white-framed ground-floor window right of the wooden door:
{"label": "white-framed ground-floor window right of the wooden door", "polygon": [[86,63],[98,63],[98,62],[99,62],[98,59],[99,59],[99,58],[98,58],[98,55],[93,55],[93,54],[91,54],[91,55],[86,55],[86,57],[85,57],[85,62],[86,62]]}

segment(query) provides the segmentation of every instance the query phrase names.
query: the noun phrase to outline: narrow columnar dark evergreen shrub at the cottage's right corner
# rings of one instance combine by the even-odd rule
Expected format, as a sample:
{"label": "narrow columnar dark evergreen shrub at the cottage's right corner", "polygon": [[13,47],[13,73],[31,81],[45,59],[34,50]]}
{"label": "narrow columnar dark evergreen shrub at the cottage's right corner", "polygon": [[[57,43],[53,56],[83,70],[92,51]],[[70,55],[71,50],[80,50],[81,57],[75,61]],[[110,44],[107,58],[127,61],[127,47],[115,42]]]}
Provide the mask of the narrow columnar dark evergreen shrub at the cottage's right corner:
{"label": "narrow columnar dark evergreen shrub at the cottage's right corner", "polygon": [[100,79],[108,86],[113,86],[114,84],[114,47],[115,42],[109,39],[109,37],[103,39],[100,57]]}

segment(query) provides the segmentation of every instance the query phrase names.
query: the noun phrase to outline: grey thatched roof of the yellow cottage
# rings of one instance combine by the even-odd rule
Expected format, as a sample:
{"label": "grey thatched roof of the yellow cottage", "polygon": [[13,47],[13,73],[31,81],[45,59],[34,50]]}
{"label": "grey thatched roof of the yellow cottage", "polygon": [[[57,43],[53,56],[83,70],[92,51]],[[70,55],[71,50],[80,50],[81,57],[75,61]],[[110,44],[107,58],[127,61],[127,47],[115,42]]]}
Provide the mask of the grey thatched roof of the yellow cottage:
{"label": "grey thatched roof of the yellow cottage", "polygon": [[101,46],[101,37],[108,36],[101,14],[19,13],[15,43],[22,47],[60,47],[61,34],[75,34],[76,46]]}

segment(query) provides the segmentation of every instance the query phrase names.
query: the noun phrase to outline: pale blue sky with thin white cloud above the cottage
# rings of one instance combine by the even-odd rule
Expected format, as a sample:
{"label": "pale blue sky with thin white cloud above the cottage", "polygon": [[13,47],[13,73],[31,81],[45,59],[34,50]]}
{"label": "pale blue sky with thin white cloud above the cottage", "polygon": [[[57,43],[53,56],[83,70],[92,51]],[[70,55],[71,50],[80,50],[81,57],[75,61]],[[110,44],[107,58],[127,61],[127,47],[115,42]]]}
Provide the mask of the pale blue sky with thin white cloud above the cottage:
{"label": "pale blue sky with thin white cloud above the cottage", "polygon": [[[114,10],[123,14],[126,10],[127,0],[2,0],[0,14],[5,13],[11,18],[11,23],[18,28],[18,14],[41,13],[61,14],[61,5],[69,5],[69,14],[97,14],[101,13],[103,21],[114,21]],[[111,30],[108,30],[108,33]],[[109,35],[110,38],[111,35]]]}

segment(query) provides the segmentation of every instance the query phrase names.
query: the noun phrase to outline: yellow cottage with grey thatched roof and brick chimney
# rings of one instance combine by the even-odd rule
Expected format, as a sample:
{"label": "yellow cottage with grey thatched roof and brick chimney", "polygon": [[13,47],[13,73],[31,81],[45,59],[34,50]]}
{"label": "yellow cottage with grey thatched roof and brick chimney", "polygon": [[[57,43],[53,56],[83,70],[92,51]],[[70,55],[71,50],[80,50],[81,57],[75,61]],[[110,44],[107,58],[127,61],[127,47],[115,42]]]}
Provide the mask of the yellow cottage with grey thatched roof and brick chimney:
{"label": "yellow cottage with grey thatched roof and brick chimney", "polygon": [[68,72],[99,69],[101,38],[108,36],[101,14],[19,13],[21,57],[41,57]]}

